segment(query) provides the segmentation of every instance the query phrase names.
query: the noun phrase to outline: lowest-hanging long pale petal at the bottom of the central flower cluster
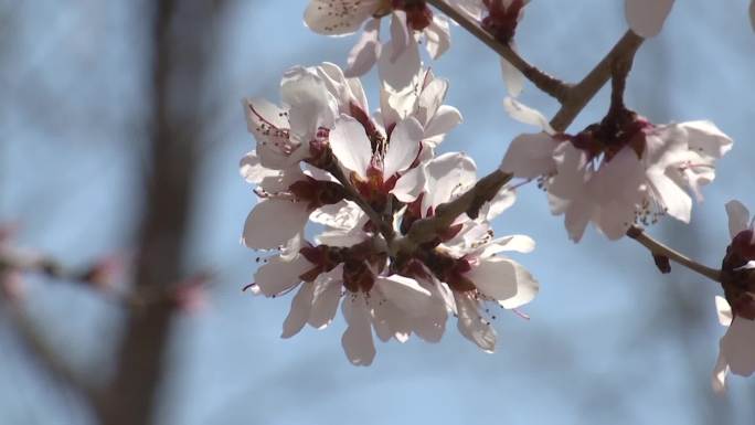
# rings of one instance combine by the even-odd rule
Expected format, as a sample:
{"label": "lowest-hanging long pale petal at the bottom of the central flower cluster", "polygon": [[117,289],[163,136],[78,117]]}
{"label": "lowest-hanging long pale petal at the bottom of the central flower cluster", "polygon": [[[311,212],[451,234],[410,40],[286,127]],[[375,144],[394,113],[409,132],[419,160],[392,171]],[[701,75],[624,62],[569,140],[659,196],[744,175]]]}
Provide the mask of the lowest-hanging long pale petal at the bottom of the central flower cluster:
{"label": "lowest-hanging long pale petal at the bottom of the central flower cluster", "polygon": [[341,346],[353,365],[368,366],[375,358],[375,344],[372,341],[370,328],[370,309],[362,295],[351,297],[347,294],[341,304],[343,317],[348,323]]}

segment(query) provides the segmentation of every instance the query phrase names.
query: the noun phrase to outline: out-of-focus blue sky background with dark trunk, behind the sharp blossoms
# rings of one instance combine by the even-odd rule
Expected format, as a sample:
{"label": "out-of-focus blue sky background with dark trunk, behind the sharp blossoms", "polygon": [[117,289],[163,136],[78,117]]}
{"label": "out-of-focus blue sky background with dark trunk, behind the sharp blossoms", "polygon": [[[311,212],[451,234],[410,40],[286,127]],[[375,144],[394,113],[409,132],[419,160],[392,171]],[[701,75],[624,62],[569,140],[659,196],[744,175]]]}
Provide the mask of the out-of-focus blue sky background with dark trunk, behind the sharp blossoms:
{"label": "out-of-focus blue sky background with dark trunk, behind the sharp blossoms", "polygon": [[[627,105],[652,121],[708,118],[735,140],[692,225],[650,230],[710,266],[727,245],[724,203],[755,209],[747,3],[677,2],[628,86]],[[241,291],[258,254],[240,244],[255,203],[237,169],[253,149],[240,100],[278,102],[291,65],[344,65],[354,38],[308,31],[306,4],[0,1],[0,225],[14,229],[0,243],[72,269],[120,258],[120,280],[162,300],[131,306],[114,296],[123,285],[97,290],[97,279],[50,269],[12,285],[6,276],[0,424],[755,423],[755,381],[733,378],[724,396],[711,390],[724,332],[717,285],[676,266],[660,275],[632,241],[593,229],[574,245],[534,185],[496,229],[538,241],[517,259],[542,291],[524,308],[531,320],[498,317],[495,354],[455,321],[438,344],[379,343],[370,368],[345,359],[340,315],[279,339],[289,297]],[[626,31],[623,8],[534,1],[519,49],[578,81]],[[489,172],[532,130],[503,113],[498,57],[454,28],[451,50],[432,66],[465,117],[440,150],[465,151]],[[376,75],[363,82],[374,107]],[[531,85],[523,100],[546,115],[557,107]],[[570,130],[599,120],[607,104],[604,89]]]}

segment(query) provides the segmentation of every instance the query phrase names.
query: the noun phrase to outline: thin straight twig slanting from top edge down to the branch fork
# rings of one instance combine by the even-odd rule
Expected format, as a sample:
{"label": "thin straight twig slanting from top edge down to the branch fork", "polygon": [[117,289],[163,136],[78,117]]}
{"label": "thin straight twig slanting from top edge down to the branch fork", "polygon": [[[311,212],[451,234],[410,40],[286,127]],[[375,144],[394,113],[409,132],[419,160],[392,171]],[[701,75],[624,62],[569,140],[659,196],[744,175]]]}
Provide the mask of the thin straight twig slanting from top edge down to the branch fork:
{"label": "thin straight twig slanting from top edge down to the branch fork", "polygon": [[527,62],[522,56],[519,55],[519,53],[511,49],[510,45],[496,40],[495,36],[485,31],[479,24],[477,24],[477,22],[469,20],[446,1],[427,0],[427,2],[433,4],[439,11],[444,12],[446,15],[448,15],[448,18],[456,21],[465,30],[469,31],[469,33],[488,45],[488,47],[501,55],[501,57],[507,60],[511,65],[519,70],[519,72],[524,74],[524,77],[532,82],[532,84],[534,84],[543,93],[549,94],[562,104],[567,100],[571,93],[571,85],[552,75],[549,75],[547,73]]}

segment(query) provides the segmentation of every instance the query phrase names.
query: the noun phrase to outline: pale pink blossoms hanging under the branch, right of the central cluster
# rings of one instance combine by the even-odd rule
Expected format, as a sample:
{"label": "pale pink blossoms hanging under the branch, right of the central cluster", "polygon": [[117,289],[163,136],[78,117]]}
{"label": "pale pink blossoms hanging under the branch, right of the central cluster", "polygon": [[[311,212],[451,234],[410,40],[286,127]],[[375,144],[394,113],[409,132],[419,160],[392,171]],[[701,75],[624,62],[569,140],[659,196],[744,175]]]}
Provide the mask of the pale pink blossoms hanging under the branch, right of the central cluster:
{"label": "pale pink blossoms hanging under the branch, right of the central cluster", "polygon": [[[538,111],[508,103],[514,118],[544,123]],[[701,187],[715,178],[715,161],[731,147],[732,139],[710,121],[656,126],[616,109],[574,136],[546,126],[540,134],[517,137],[501,170],[539,178],[551,211],[564,214],[573,241],[582,238],[589,222],[617,240],[632,224],[648,225],[667,214],[688,223],[688,192],[702,200]]]}

